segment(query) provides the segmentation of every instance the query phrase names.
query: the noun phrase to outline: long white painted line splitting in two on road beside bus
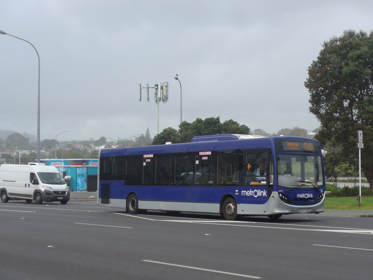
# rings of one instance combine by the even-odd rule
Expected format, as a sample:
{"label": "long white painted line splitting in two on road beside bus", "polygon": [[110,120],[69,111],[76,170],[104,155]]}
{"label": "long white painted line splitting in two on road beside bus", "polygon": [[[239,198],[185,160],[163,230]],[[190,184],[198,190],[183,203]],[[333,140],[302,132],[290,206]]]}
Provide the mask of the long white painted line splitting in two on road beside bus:
{"label": "long white painted line splitting in two on road beside bus", "polygon": [[[285,230],[305,230],[305,231],[324,231],[324,232],[336,232],[336,233],[358,233],[358,234],[373,234],[373,230],[365,230],[365,229],[358,229],[358,228],[339,228],[338,227],[330,227],[329,229],[314,229],[314,228],[290,228],[290,227],[275,227],[275,226],[263,226],[263,225],[248,225],[248,224],[256,224],[255,222],[245,222],[245,221],[201,221],[201,220],[189,220],[189,221],[179,221],[179,220],[157,220],[152,218],[145,218],[139,217],[137,215],[131,214],[123,214],[123,213],[115,213],[118,215],[144,219],[149,221],[163,221],[163,222],[174,222],[174,223],[195,223],[195,224],[214,224],[214,225],[232,225],[235,227],[257,227],[257,228],[274,228],[274,229],[285,229]],[[257,224],[266,224],[266,223],[257,223]],[[281,225],[292,225],[294,224],[281,224]],[[320,228],[328,228],[324,226],[317,226],[317,225],[299,225],[301,227],[320,227]]]}

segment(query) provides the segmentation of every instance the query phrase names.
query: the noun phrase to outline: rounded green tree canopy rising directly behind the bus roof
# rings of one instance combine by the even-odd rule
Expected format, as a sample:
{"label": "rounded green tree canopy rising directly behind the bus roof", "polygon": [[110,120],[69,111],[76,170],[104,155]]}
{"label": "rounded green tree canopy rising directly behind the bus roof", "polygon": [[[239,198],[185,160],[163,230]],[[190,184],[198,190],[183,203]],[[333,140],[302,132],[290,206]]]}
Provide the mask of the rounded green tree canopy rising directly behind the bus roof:
{"label": "rounded green tree canopy rising directly behind the bus roof", "polygon": [[187,143],[194,136],[214,135],[214,134],[249,134],[250,128],[240,125],[238,122],[229,119],[223,123],[220,117],[206,119],[197,118],[193,122],[183,121],[179,125],[179,130],[172,127],[165,128],[161,133],[154,136],[153,145],[160,145],[166,142]]}

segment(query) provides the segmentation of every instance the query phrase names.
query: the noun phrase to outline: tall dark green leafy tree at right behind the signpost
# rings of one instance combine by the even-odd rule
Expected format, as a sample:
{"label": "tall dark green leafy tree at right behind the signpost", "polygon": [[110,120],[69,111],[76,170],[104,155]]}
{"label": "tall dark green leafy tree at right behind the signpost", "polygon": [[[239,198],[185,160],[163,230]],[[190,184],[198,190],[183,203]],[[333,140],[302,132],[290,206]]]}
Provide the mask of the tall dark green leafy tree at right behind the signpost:
{"label": "tall dark green leafy tree at right behind the signpost", "polygon": [[373,189],[373,32],[347,30],[325,41],[305,87],[322,125],[316,137],[340,147],[340,161],[356,165],[356,131],[363,130],[361,168]]}

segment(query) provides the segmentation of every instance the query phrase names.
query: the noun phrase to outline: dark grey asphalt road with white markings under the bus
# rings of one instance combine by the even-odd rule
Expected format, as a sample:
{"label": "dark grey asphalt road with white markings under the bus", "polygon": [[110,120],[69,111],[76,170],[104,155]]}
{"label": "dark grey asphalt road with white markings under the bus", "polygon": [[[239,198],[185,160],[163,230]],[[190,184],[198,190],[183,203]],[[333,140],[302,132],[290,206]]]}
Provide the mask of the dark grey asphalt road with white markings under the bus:
{"label": "dark grey asphalt road with white markings under the bus", "polygon": [[0,203],[0,279],[372,279],[373,219]]}

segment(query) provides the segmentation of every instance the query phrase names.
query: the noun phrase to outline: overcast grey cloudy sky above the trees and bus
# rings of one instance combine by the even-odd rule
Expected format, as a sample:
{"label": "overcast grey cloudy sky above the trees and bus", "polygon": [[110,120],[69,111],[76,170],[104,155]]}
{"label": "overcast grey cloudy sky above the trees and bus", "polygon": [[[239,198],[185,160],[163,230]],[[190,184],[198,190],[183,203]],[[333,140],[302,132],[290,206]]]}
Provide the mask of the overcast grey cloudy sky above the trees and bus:
{"label": "overcast grey cloudy sky above the trees and bus", "polygon": [[[314,130],[304,87],[323,41],[373,29],[372,1],[3,0],[0,30],[40,55],[40,138],[156,134],[220,116],[254,130]],[[38,60],[0,35],[1,130],[37,134]]]}

